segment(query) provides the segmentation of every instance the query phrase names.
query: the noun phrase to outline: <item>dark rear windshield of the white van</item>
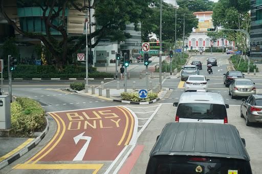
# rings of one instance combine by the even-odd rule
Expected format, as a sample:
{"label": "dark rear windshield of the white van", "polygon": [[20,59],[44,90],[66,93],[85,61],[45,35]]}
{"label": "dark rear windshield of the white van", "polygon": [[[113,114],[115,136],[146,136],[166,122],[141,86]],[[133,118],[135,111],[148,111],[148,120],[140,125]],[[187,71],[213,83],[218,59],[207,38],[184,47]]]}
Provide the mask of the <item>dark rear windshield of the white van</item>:
{"label": "dark rear windshield of the white van", "polygon": [[210,103],[181,103],[177,115],[191,119],[224,119],[227,116],[225,105]]}

